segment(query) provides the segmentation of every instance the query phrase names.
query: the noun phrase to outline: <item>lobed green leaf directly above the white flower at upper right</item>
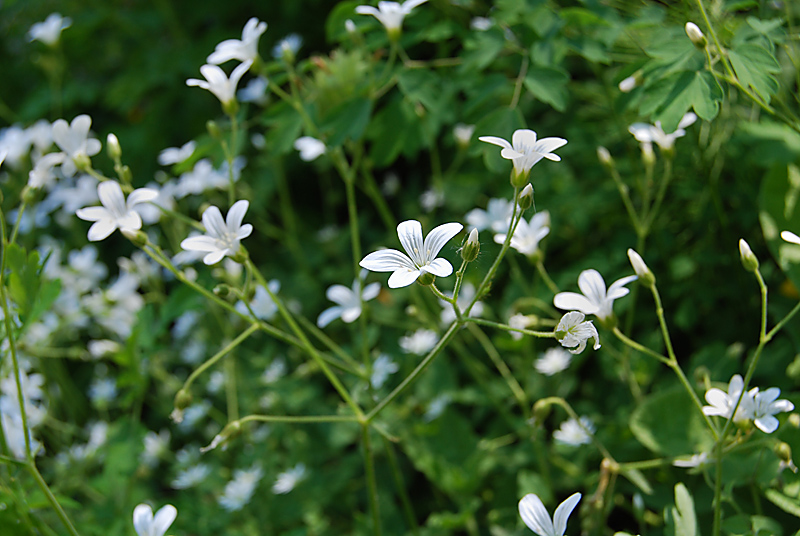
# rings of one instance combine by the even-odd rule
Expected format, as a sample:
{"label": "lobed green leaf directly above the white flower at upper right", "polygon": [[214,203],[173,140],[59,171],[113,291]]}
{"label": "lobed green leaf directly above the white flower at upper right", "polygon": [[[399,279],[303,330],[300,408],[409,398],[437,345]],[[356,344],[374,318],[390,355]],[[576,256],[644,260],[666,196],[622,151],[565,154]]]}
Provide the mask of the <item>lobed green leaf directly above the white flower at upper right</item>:
{"label": "lobed green leaf directly above the white flower at upper right", "polygon": [[686,112],[694,111],[709,121],[719,112],[722,88],[706,71],[681,71],[645,88],[640,112],[661,121],[664,132],[674,132]]}

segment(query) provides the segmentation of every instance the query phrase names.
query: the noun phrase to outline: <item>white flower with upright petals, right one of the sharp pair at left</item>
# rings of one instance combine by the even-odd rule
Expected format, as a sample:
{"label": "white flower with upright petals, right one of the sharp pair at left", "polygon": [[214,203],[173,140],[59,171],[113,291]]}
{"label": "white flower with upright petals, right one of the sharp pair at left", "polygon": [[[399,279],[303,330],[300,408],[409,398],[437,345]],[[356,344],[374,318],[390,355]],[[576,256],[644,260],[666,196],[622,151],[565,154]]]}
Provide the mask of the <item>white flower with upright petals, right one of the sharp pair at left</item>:
{"label": "white flower with upright petals, right one of the sharp pair at left", "polygon": [[209,265],[218,263],[226,255],[233,257],[239,252],[240,240],[253,232],[253,226],[249,223],[242,225],[249,206],[248,201],[237,201],[228,211],[225,220],[222,219],[219,208],[208,207],[202,218],[206,234],[184,239],[181,247],[188,251],[208,252],[203,262]]}

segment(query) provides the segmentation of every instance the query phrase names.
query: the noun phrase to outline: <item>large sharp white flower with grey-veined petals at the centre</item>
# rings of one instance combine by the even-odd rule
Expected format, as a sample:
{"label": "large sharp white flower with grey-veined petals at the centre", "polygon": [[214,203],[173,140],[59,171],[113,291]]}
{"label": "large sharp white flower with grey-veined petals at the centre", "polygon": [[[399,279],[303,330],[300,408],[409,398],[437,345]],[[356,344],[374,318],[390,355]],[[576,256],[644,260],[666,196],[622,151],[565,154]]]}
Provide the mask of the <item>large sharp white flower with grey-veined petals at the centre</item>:
{"label": "large sharp white flower with grey-veined petals at the centre", "polygon": [[408,255],[396,249],[383,249],[370,253],[359,265],[373,272],[394,272],[389,277],[389,288],[406,287],[426,272],[447,277],[453,273],[453,266],[436,255],[462,228],[460,223],[445,223],[428,233],[423,241],[422,224],[416,220],[401,222],[397,235]]}

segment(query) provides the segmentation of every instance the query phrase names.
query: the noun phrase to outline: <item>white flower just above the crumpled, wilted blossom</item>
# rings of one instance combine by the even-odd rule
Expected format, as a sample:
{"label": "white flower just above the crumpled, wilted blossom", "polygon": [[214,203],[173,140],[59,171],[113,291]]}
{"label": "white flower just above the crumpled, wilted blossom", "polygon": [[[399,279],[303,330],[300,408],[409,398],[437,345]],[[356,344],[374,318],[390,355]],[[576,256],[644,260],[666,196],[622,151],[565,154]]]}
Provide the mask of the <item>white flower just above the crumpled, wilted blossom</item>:
{"label": "white flower just above the crumpled, wilted blossom", "polygon": [[559,292],[553,298],[553,305],[567,311],[580,311],[587,315],[595,315],[605,320],[614,315],[614,300],[630,292],[625,285],[635,281],[637,276],[629,275],[617,279],[606,291],[606,282],[597,270],[584,270],[578,276],[578,287],[583,294],[576,292]]}

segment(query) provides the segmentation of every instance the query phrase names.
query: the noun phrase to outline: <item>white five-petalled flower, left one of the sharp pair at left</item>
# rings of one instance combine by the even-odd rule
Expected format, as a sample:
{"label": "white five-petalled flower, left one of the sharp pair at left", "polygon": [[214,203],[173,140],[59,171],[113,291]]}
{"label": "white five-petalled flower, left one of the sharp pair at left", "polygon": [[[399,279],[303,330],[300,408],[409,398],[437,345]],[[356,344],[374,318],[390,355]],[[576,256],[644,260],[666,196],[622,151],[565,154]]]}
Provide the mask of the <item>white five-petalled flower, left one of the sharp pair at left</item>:
{"label": "white five-petalled flower, left one of the sharp pair at left", "polygon": [[133,207],[139,203],[152,201],[158,192],[150,188],[139,188],[131,192],[127,201],[122,188],[114,181],[103,181],[97,185],[97,195],[102,207],[85,207],[75,215],[82,220],[95,222],[89,228],[89,240],[103,240],[116,229],[138,231],[142,228],[142,217]]}

